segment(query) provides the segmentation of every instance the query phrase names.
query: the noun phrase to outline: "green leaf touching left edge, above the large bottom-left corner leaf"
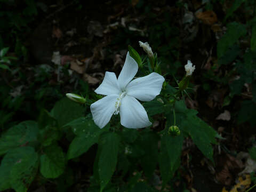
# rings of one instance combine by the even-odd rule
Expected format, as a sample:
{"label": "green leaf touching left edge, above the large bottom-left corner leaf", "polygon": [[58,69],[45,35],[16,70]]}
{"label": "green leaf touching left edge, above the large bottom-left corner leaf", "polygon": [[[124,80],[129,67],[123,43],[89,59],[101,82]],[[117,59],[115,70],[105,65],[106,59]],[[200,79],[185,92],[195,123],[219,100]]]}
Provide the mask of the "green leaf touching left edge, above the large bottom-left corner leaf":
{"label": "green leaf touching left edge, above the large bottom-left corner leaf", "polygon": [[25,121],[11,127],[0,138],[0,155],[9,149],[36,142],[37,135],[38,125],[34,121]]}

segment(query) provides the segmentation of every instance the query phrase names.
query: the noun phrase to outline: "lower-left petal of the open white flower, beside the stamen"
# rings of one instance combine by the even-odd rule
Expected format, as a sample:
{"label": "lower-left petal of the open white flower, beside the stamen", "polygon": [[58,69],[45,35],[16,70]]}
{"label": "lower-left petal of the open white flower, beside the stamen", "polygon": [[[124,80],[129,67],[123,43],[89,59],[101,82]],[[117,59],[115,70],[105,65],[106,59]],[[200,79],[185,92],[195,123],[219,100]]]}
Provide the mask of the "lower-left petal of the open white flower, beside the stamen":
{"label": "lower-left petal of the open white flower, beside the stamen", "polygon": [[103,128],[110,121],[116,108],[115,103],[119,95],[112,94],[92,103],[91,112],[94,123],[100,128]]}

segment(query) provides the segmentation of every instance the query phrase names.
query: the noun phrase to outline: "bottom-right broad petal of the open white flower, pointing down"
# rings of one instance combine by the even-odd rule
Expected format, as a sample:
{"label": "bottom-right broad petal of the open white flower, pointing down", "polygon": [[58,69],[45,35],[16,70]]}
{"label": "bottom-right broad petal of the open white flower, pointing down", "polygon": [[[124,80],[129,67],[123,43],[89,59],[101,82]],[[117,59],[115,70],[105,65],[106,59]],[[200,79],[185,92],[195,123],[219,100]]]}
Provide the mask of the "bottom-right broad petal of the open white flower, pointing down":
{"label": "bottom-right broad petal of the open white flower, pointing down", "polygon": [[140,102],[126,95],[122,101],[119,109],[121,124],[127,128],[142,128],[151,125],[148,115]]}

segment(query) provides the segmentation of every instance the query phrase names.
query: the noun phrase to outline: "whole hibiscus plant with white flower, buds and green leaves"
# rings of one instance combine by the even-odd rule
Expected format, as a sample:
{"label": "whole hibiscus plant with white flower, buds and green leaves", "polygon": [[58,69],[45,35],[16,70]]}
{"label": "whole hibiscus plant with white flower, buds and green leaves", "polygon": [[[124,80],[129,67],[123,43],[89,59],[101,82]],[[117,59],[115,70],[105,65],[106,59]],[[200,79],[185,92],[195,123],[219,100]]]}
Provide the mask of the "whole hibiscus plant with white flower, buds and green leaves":
{"label": "whole hibiscus plant with white flower, buds and green leaves", "polygon": [[94,93],[89,87],[84,97],[67,93],[50,112],[42,110],[38,122],[25,121],[2,134],[1,191],[27,191],[37,177],[64,179],[58,190],[65,191],[75,183],[70,165],[78,161],[91,170],[87,191],[154,191],[154,178],[164,189],[180,167],[186,138],[214,164],[212,144],[220,137],[185,105],[195,66],[188,61],[184,77],[170,79],[149,44],[140,46],[146,59],[129,46],[119,76],[107,71]]}

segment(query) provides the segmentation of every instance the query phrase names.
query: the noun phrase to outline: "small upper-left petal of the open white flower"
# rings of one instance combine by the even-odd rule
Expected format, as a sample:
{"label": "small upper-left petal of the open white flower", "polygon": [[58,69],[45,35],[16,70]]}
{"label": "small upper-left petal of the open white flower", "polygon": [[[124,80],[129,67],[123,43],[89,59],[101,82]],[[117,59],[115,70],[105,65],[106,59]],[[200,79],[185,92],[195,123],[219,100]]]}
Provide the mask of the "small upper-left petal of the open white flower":
{"label": "small upper-left petal of the open white flower", "polygon": [[106,72],[103,82],[95,90],[97,94],[110,95],[110,94],[119,94],[121,90],[116,79],[116,74],[112,72]]}

